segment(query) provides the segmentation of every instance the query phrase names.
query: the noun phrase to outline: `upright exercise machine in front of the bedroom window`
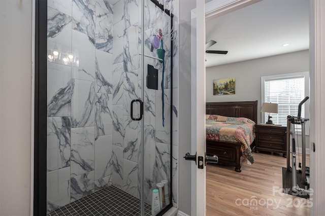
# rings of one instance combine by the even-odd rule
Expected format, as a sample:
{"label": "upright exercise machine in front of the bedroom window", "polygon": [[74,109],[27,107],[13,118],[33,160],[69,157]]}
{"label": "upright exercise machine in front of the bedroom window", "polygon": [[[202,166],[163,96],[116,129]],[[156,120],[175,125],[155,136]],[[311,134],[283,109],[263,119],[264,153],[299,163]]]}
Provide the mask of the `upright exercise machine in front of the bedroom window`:
{"label": "upright exercise machine in front of the bedroom window", "polygon": [[[299,163],[299,167],[302,175],[302,185],[309,185],[309,167],[306,167],[306,133],[305,123],[309,121],[307,118],[301,118],[301,106],[305,103],[309,97],[305,97],[298,105],[298,116],[287,116],[287,170],[292,173],[292,190],[295,193],[304,192],[309,194],[310,191],[300,188],[297,184],[297,162],[296,162],[296,139],[295,139],[295,125],[301,125],[301,142],[302,142],[302,163]],[[291,138],[291,139],[290,139]],[[290,167],[290,140],[291,140],[291,167]]]}

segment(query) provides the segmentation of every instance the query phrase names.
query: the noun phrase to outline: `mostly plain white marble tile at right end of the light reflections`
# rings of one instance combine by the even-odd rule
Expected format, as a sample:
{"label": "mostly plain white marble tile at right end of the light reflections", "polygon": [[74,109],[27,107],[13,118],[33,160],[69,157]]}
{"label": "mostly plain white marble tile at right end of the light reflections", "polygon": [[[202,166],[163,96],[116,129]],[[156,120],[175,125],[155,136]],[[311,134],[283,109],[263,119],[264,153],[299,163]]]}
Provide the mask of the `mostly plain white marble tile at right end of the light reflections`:
{"label": "mostly plain white marble tile at right end of the light reflections", "polygon": [[72,77],[95,81],[95,46],[89,37],[79,31],[72,31]]}

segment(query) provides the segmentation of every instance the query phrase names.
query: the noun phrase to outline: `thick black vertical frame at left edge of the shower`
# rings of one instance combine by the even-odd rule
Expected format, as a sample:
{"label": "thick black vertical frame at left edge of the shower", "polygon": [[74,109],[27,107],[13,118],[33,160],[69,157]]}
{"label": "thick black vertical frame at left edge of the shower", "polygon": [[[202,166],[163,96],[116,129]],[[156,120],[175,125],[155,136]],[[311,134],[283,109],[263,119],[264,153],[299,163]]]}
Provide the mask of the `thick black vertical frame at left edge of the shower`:
{"label": "thick black vertical frame at left edge of the shower", "polygon": [[[34,163],[31,170],[33,182],[32,207],[33,215],[46,214],[46,133],[40,130],[46,129],[47,116],[47,1],[36,0],[35,2],[35,81],[34,81]],[[33,193],[31,191],[31,193]]]}

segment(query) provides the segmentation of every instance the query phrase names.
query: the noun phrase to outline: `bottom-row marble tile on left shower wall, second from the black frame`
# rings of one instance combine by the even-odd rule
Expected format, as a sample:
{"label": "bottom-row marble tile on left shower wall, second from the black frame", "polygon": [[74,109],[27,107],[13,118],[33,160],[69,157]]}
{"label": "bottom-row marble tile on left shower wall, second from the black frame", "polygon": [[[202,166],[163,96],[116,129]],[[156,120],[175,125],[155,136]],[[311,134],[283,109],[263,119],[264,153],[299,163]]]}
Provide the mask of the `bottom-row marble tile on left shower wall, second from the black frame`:
{"label": "bottom-row marble tile on left shower wall, second from the black frame", "polygon": [[94,171],[77,175],[70,179],[71,201],[78,200],[94,192]]}

